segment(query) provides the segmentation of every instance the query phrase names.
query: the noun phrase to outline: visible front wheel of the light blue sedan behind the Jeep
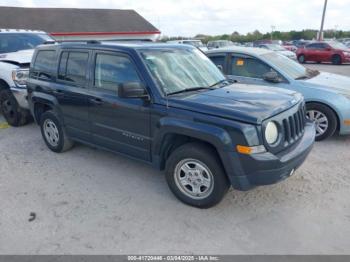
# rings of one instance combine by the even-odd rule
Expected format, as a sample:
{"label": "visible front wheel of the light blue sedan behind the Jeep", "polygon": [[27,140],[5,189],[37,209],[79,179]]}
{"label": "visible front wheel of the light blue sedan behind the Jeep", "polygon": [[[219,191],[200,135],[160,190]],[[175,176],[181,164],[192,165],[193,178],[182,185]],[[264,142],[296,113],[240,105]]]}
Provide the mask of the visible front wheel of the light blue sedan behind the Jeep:
{"label": "visible front wheel of the light blue sedan behind the Jeep", "polygon": [[[338,127],[338,118],[334,111],[328,106],[318,103],[309,103],[306,108],[307,117],[316,122],[316,141],[322,141],[333,136]],[[322,121],[324,117],[327,121]],[[327,127],[322,123],[327,123]],[[324,131],[321,132],[321,130]]]}

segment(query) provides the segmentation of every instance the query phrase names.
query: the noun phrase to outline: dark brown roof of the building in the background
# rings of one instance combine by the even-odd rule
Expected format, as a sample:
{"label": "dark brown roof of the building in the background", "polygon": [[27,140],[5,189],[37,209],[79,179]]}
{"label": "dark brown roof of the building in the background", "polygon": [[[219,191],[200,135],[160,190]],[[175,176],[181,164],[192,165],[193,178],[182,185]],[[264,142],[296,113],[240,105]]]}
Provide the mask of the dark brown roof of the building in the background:
{"label": "dark brown roof of the building in the background", "polygon": [[43,30],[55,34],[159,34],[134,10],[0,7],[3,28]]}

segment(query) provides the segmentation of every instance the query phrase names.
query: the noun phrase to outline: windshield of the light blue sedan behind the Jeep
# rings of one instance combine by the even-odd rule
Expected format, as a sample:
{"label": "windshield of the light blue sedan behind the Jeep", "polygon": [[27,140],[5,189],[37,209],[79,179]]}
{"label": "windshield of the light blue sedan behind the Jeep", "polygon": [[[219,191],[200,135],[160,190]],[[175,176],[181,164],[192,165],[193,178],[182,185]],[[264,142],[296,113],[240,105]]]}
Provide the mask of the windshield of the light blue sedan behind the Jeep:
{"label": "windshield of the light blue sedan behind the Jeep", "polygon": [[302,79],[310,78],[316,74],[317,71],[312,71],[306,69],[304,66],[299,63],[289,59],[284,55],[278,53],[267,53],[261,55],[266,61],[268,61],[275,68],[278,68],[285,72],[290,78],[293,79]]}

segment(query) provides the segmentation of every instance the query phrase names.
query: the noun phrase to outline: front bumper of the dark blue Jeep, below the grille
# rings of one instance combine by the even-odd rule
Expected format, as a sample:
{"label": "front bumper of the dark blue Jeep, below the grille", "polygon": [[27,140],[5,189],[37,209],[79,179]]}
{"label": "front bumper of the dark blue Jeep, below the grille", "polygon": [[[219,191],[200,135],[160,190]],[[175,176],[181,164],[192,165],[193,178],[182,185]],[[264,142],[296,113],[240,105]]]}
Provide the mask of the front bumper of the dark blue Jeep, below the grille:
{"label": "front bumper of the dark blue Jeep, below the grille", "polygon": [[291,148],[277,155],[269,152],[253,155],[231,152],[229,163],[223,162],[232,186],[238,190],[249,190],[288,178],[310,153],[315,133],[315,125],[308,122],[303,137]]}

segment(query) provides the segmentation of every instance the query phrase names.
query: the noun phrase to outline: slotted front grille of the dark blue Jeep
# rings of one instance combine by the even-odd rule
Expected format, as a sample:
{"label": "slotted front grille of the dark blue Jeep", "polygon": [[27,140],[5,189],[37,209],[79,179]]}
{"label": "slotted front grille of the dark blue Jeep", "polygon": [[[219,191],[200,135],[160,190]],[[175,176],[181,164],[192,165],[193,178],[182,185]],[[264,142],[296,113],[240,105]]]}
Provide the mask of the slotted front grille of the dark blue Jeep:
{"label": "slotted front grille of the dark blue Jeep", "polygon": [[282,123],[284,131],[284,147],[287,147],[304,134],[306,124],[305,106],[300,106],[295,114],[283,119]]}

